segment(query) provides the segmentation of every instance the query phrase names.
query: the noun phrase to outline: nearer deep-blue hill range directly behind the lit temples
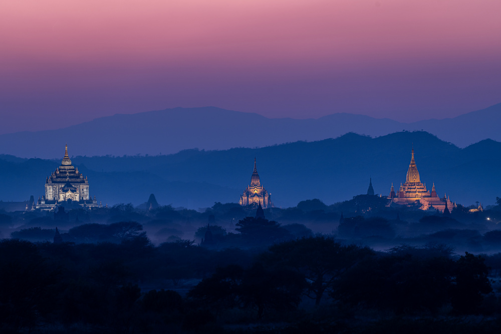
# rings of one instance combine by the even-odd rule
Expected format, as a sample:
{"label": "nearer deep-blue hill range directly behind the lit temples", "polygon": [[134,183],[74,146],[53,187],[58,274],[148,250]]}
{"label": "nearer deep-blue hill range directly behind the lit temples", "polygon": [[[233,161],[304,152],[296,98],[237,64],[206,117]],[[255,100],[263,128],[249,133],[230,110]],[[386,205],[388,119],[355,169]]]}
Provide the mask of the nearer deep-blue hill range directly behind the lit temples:
{"label": "nearer deep-blue hill range directly behind the lit temples", "polygon": [[[88,176],[90,194],[114,204],[144,203],[154,193],[160,204],[189,208],[214,202],[238,202],[249,184],[257,158],[258,172],[277,206],[295,206],[319,198],[326,204],[367,192],[369,177],[376,193],[388,195],[405,182],[411,147],[422,182],[435,183],[440,196],[464,205],[493,204],[501,196],[501,143],[483,140],[466,148],[427,132],[398,132],[371,138],[346,134],[336,139],[294,142],[259,149],[184,150],[172,155],[72,158]],[[70,146],[71,149],[71,146]],[[63,150],[59,150],[63,156]],[[0,156],[0,199],[27,200],[43,195],[57,160]]]}

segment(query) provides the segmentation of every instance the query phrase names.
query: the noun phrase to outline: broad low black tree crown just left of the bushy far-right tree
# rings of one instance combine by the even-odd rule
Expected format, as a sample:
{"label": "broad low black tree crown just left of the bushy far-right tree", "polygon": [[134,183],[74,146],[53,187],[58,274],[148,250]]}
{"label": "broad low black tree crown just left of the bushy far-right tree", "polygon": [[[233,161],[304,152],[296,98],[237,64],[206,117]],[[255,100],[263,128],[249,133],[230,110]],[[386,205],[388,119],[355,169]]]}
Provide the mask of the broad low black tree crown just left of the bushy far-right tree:
{"label": "broad low black tree crown just left of the bushy far-right tree", "polygon": [[396,313],[436,311],[449,301],[452,265],[450,258],[429,257],[426,249],[400,247],[351,268],[333,297]]}

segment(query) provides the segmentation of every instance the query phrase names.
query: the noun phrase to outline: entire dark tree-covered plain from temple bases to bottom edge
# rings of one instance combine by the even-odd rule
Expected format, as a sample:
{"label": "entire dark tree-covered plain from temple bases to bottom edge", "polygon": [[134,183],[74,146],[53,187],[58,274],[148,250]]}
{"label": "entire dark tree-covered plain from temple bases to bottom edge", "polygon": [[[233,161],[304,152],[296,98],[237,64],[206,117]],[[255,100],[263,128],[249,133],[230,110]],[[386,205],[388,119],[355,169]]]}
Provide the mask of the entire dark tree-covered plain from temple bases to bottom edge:
{"label": "entire dark tree-covered plain from temple bases to bottom edge", "polygon": [[499,205],[383,204],[3,212],[0,332],[497,333]]}

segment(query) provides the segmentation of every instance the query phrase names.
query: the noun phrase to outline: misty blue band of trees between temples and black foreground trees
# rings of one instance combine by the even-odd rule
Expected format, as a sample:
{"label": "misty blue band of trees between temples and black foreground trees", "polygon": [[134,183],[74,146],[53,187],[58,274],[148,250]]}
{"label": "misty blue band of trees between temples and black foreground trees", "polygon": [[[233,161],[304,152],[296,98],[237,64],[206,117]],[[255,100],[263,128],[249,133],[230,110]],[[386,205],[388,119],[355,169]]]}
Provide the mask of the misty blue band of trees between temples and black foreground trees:
{"label": "misty blue band of trees between temples and black foreground trees", "polygon": [[169,205],[143,210],[131,204],[117,204],[93,210],[72,209],[66,220],[58,219],[52,212],[0,213],[0,237],[52,241],[58,226],[66,242],[121,242],[124,232],[120,230],[130,228],[129,232],[146,232],[156,245],[182,239],[201,243],[209,224],[212,239],[205,246],[219,249],[264,247],[322,232],[336,235],[345,243],[378,249],[402,243],[439,242],[452,245],[461,253],[501,250],[499,205],[475,212],[458,205],[444,215],[436,210],[386,207],[384,203],[384,198],[369,195],[330,206],[318,199],[306,200],[293,208],[265,209],[264,220],[246,218],[255,216],[255,206],[235,203],[215,203],[199,211]]}

